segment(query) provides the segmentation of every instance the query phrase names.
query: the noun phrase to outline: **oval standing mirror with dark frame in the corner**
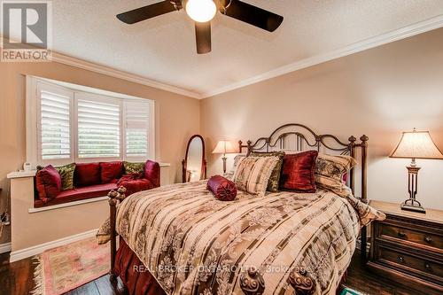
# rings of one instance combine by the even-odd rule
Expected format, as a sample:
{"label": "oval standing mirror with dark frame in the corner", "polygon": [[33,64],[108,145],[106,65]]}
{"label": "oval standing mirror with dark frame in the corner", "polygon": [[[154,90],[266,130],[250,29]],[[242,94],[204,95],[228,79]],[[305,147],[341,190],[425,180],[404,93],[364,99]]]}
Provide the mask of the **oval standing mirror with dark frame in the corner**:
{"label": "oval standing mirror with dark frame in the corner", "polygon": [[202,136],[191,136],[182,161],[183,182],[198,182],[206,178],[205,141]]}

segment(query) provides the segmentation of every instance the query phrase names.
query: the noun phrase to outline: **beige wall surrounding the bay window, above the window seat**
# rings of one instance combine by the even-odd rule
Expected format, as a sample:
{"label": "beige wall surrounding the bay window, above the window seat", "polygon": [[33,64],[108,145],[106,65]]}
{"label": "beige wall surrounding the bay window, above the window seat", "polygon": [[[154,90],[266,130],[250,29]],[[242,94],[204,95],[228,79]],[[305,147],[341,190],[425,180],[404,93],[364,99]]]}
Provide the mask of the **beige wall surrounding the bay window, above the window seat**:
{"label": "beige wall surrounding the bay window, above the window seat", "polygon": [[[0,187],[4,189],[0,195],[2,208],[9,191],[6,174],[21,168],[25,161],[26,74],[155,100],[156,159],[171,163],[171,182],[181,179],[181,160],[187,141],[190,136],[199,132],[197,99],[58,63],[0,62]],[[89,221],[86,219],[79,222],[88,224]],[[94,226],[97,228],[97,224]],[[3,237],[0,237],[0,244],[9,240],[8,228]],[[89,225],[89,229],[94,228]]]}

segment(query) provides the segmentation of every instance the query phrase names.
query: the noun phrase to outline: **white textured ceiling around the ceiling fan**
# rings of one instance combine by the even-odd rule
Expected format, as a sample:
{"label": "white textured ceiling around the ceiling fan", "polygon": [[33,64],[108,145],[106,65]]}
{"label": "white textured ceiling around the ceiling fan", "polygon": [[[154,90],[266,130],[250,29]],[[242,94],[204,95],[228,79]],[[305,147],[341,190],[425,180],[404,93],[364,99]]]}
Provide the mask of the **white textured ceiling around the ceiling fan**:
{"label": "white textured ceiling around the ceiling fan", "polygon": [[442,0],[243,0],[284,16],[268,33],[213,20],[213,50],[198,55],[193,23],[171,12],[135,25],[120,12],[159,0],[53,0],[53,50],[205,96],[443,14]]}

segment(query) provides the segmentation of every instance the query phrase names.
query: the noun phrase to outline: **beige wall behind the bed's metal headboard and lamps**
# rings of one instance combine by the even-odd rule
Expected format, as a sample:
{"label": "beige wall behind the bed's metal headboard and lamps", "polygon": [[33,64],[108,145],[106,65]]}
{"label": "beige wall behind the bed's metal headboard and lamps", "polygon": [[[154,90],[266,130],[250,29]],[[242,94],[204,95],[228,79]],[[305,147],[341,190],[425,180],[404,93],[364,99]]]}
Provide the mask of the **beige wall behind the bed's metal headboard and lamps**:
{"label": "beige wall behind the bed's metal headboard and lamps", "polygon": [[[369,136],[369,198],[407,198],[406,159],[387,156],[403,130],[431,131],[443,150],[443,28],[362,51],[201,102],[209,174],[220,139],[256,139],[298,122],[318,133]],[[418,160],[424,206],[443,209],[443,160]]]}

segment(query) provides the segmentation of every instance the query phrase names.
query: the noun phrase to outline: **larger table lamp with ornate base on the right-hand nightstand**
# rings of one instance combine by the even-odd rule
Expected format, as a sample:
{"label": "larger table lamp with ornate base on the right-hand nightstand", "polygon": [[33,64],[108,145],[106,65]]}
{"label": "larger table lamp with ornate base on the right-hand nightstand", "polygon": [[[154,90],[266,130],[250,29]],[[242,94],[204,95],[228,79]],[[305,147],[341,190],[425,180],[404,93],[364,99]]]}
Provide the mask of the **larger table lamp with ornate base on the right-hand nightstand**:
{"label": "larger table lamp with ornate base on the right-hand nightstand", "polygon": [[422,204],[416,200],[417,176],[420,167],[416,167],[416,159],[443,159],[443,154],[432,141],[429,131],[403,132],[400,143],[392,151],[390,158],[412,159],[408,168],[409,198],[401,204],[402,210],[426,213]]}

